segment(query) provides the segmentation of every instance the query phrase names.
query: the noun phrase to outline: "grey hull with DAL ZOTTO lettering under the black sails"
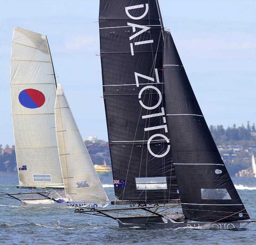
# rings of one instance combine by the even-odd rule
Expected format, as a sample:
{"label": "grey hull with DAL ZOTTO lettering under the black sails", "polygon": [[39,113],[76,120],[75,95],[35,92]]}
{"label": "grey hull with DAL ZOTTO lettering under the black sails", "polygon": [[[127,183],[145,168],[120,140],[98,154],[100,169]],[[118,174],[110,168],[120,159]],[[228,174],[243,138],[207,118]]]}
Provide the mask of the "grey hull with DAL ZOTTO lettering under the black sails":
{"label": "grey hull with DAL ZOTTO lettering under the black sails", "polygon": [[[170,218],[169,215],[162,217],[129,217],[118,218],[119,228],[123,229],[216,229],[216,230],[232,230],[245,228],[251,220],[232,221],[232,222],[199,222],[199,221],[181,221],[177,222]],[[242,224],[240,226],[240,224]]]}

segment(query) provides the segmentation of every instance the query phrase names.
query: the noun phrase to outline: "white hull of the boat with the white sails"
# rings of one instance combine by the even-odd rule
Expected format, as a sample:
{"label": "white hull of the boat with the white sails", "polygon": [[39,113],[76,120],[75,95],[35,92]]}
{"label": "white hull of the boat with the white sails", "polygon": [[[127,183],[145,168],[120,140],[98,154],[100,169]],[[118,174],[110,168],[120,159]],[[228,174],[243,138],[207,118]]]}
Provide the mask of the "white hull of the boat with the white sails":
{"label": "white hull of the boat with the white sails", "polygon": [[[63,200],[63,199],[62,199]],[[22,207],[28,208],[105,208],[108,202],[58,202],[51,199],[21,200]]]}

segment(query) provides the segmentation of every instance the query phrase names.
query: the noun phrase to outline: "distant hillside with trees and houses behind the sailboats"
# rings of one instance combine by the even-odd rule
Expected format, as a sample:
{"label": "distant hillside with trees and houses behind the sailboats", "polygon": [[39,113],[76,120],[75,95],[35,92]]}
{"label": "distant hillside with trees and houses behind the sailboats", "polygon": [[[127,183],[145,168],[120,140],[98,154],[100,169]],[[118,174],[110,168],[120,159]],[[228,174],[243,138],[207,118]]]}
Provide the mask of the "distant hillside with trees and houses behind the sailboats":
{"label": "distant hillside with trees and houses behind the sailboats", "polygon": [[[252,154],[256,155],[256,130],[254,123],[251,126],[247,122],[246,127],[243,124],[236,127],[236,124],[234,124],[226,129],[222,125],[211,125],[210,131],[231,176],[251,166]],[[94,164],[102,164],[105,159],[107,164],[111,165],[108,142],[97,140],[97,137],[95,138],[94,140],[84,141],[92,162]],[[6,145],[3,149],[2,145],[0,145],[0,171],[17,171],[14,146],[10,148],[10,146]]]}

